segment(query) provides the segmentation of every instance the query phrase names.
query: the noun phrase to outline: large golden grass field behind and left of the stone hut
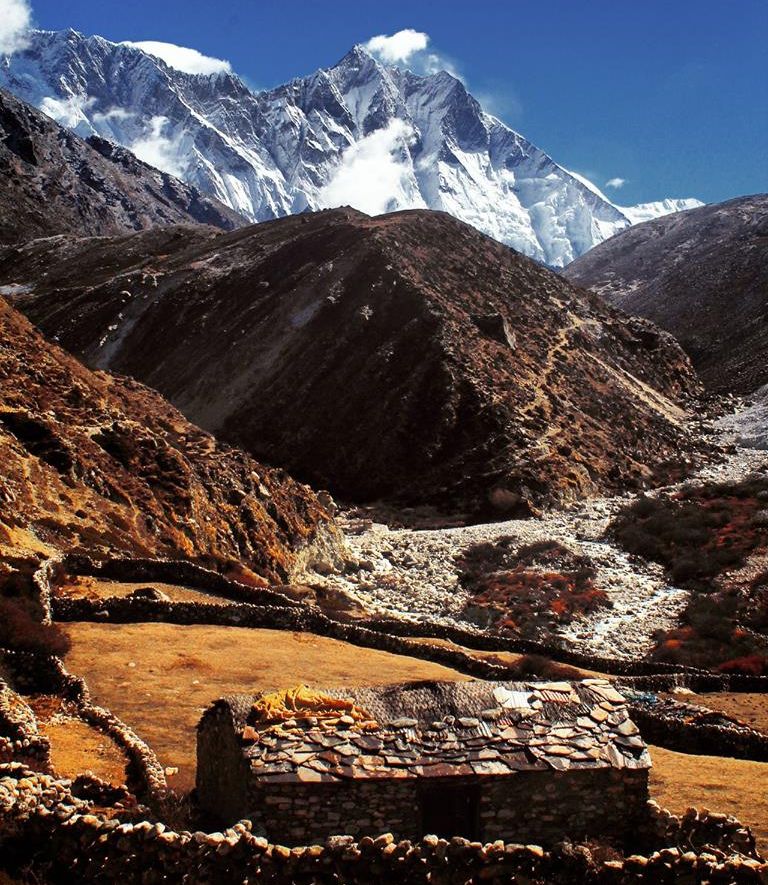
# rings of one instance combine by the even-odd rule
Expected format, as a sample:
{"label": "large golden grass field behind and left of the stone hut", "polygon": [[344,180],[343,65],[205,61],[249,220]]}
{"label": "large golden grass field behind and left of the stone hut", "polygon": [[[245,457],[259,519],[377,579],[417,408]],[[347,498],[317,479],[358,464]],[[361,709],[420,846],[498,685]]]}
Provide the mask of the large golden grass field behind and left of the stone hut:
{"label": "large golden grass field behind and left of the stone hut", "polygon": [[[359,648],[310,633],[173,624],[66,625],[68,669],[97,704],[112,710],[155,750],[169,779],[190,789],[195,728],[218,697],[310,685],[361,685],[468,677],[416,658]],[[130,666],[130,665],[133,666]]]}

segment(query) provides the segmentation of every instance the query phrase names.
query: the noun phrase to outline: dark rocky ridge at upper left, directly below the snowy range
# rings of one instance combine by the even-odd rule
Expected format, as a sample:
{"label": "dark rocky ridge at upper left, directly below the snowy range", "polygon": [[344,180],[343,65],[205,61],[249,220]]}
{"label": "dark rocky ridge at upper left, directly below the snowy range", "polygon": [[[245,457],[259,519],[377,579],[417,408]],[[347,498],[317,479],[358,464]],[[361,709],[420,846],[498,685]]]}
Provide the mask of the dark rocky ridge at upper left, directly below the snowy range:
{"label": "dark rocky ridge at upper left, directly below the snowy range", "polygon": [[101,138],[83,141],[0,89],[0,243],[182,222],[225,230],[245,223],[130,151]]}

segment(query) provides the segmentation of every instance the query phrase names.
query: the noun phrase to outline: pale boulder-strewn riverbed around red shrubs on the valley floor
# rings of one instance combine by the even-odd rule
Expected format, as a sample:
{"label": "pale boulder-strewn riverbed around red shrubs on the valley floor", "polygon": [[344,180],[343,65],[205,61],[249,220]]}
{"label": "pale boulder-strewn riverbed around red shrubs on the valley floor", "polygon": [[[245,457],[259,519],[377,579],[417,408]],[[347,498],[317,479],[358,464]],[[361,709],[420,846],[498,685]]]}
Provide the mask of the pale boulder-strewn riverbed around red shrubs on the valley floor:
{"label": "pale boulder-strewn riverbed around red shrubs on the valley floor", "polygon": [[[691,480],[737,480],[766,469],[766,452],[737,447]],[[596,498],[541,518],[429,530],[342,518],[357,567],[343,575],[318,576],[317,583],[345,593],[371,613],[477,628],[465,613],[470,596],[459,582],[461,554],[473,545],[501,539],[514,539],[514,548],[557,541],[591,560],[595,584],[606,592],[610,606],[555,628],[553,638],[588,654],[639,658],[652,648],[657,630],[676,626],[688,591],[672,586],[661,566],[629,555],[605,536],[618,510],[634,498],[631,494]]]}

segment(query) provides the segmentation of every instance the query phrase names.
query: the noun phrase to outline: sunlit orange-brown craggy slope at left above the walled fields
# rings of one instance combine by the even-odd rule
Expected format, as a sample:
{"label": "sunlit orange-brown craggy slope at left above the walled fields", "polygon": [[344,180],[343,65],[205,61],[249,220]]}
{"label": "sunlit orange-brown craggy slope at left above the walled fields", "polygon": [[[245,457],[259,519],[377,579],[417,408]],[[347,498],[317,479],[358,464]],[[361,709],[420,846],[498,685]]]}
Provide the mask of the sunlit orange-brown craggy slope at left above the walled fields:
{"label": "sunlit orange-brown craggy slope at left above the walled fields", "polygon": [[308,488],[86,369],[0,298],[0,559],[182,556],[282,581],[335,538]]}

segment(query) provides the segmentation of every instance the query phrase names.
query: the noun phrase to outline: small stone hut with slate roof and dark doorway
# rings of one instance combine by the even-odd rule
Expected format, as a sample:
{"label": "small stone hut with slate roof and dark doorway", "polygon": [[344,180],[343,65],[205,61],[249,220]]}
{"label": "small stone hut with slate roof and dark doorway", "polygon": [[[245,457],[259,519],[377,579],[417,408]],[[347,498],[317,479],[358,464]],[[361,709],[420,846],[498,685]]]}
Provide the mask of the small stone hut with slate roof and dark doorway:
{"label": "small stone hut with slate roof and dark doorway", "polygon": [[601,679],[301,687],[206,711],[197,794],[219,824],[249,818],[289,845],[384,832],[623,841],[645,814],[650,766]]}

